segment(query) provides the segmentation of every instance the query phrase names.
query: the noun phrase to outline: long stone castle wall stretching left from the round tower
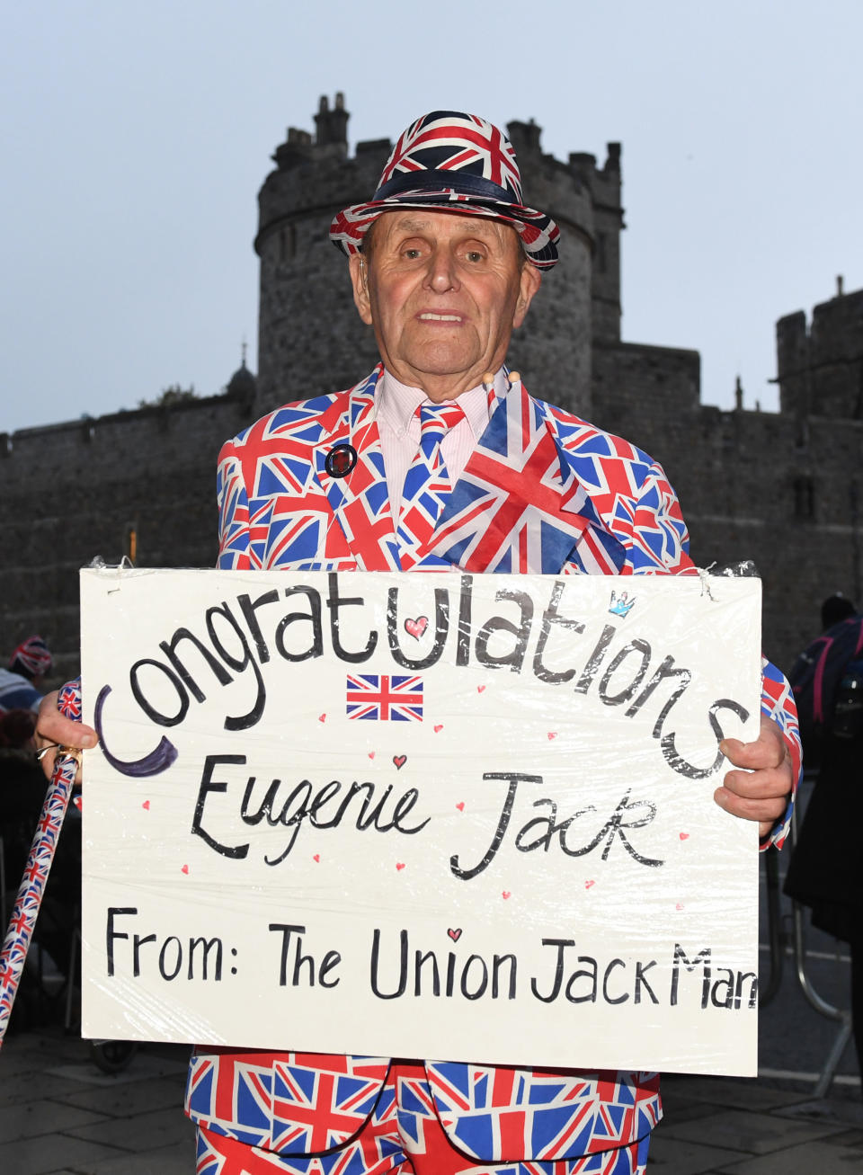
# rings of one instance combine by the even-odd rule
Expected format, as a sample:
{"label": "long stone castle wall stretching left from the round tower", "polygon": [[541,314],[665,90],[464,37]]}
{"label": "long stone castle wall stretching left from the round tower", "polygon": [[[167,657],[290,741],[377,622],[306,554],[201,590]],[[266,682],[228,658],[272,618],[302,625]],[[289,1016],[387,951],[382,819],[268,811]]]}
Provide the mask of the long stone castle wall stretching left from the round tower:
{"label": "long stone castle wall stretching left from the round tower", "polygon": [[251,419],[227,396],[0,436],[0,650],[40,632],[77,672],[77,571],[213,566],[216,456]]}

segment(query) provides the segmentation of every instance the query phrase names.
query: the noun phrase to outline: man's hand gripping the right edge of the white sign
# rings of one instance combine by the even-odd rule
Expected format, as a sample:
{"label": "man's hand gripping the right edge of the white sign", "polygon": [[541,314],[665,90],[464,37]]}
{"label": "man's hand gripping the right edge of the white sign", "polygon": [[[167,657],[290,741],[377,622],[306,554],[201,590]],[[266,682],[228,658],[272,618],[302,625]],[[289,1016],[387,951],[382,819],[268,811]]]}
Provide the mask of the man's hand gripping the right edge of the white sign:
{"label": "man's hand gripping the right edge of the white sign", "polygon": [[757,820],[759,835],[763,840],[786,811],[794,788],[791,757],[782,731],[771,718],[762,714],[761,732],[754,743],[727,738],[720,743],[720,751],[735,767],[747,770],[727,772],[714,799],[733,815]]}

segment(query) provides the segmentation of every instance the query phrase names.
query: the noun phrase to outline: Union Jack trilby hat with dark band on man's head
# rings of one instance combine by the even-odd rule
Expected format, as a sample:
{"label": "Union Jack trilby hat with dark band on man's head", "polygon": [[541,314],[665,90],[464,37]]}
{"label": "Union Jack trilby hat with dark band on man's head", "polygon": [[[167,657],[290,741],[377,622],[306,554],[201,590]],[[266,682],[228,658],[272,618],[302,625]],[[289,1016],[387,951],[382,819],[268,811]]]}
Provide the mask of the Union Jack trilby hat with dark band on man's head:
{"label": "Union Jack trilby hat with dark band on man's head", "polygon": [[476,114],[432,110],[412,122],[396,143],[378,190],[366,203],[333,216],[330,240],[348,256],[359,253],[369,226],[398,208],[503,220],[519,234],[538,269],[558,261],[560,229],[551,216],[525,207],[512,143]]}

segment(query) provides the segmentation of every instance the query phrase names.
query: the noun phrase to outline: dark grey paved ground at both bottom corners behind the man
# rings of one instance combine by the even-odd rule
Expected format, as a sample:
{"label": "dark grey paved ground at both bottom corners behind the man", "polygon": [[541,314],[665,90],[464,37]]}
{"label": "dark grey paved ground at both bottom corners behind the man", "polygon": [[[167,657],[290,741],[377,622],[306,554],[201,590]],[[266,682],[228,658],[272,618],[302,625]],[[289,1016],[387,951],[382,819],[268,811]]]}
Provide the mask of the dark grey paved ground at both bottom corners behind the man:
{"label": "dark grey paved ground at both bottom corners behind the man", "polygon": [[[801,794],[805,806],[808,788]],[[787,866],[780,855],[780,877]],[[803,996],[790,956],[790,905],[782,899],[783,951],[769,956],[762,857],[762,994],[757,1080],[666,1076],[666,1116],[650,1147],[650,1175],[863,1175],[863,1100],[854,1048],[830,1096],[814,1100],[837,1025]],[[807,931],[807,973],[817,993],[848,1005],[848,958]],[[49,985],[47,985],[49,986]],[[19,1023],[62,1019],[62,992]],[[19,996],[19,1003],[21,998]],[[193,1175],[194,1132],[181,1103],[188,1048],[142,1046],[107,1075],[89,1045],[58,1027],[9,1035],[0,1050],[0,1175]]]}

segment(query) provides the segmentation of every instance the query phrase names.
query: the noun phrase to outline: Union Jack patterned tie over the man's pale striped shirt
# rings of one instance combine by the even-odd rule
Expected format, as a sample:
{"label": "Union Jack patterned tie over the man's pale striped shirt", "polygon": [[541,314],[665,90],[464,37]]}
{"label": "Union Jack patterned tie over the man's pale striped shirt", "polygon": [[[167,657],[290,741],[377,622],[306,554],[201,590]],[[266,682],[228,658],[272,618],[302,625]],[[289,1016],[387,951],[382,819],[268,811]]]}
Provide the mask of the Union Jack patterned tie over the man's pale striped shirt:
{"label": "Union Jack patterned tie over the man's pale striped shirt", "polygon": [[440,442],[465,415],[458,404],[426,403],[420,404],[417,410],[420,425],[419,449],[405,475],[398,523],[403,571],[422,559],[444,501],[452,490]]}

